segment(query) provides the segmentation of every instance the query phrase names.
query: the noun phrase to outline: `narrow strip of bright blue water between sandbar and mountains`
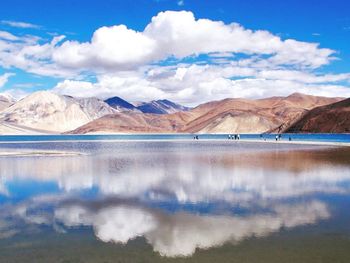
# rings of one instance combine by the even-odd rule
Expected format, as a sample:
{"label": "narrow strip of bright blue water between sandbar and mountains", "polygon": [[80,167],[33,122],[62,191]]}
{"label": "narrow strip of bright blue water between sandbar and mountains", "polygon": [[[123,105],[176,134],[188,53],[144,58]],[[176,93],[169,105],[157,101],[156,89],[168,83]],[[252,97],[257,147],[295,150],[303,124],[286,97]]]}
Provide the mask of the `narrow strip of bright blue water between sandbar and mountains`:
{"label": "narrow strip of bright blue water between sandbar and mountains", "polygon": [[[128,134],[128,135],[2,135],[0,141],[99,141],[99,140],[188,140],[193,134]],[[223,140],[228,134],[199,134],[199,139]],[[243,140],[274,140],[276,134],[241,134]],[[282,141],[350,142],[350,134],[282,134]]]}

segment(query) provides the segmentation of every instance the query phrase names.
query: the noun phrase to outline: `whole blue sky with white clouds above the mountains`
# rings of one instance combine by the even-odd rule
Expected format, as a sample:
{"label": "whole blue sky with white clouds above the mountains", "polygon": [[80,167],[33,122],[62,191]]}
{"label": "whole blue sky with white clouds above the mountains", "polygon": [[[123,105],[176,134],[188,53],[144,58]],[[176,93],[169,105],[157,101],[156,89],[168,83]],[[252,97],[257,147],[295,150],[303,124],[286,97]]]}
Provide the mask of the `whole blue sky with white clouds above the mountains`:
{"label": "whole blue sky with white clouds above the mountains", "polygon": [[350,97],[347,0],[2,0],[0,93]]}

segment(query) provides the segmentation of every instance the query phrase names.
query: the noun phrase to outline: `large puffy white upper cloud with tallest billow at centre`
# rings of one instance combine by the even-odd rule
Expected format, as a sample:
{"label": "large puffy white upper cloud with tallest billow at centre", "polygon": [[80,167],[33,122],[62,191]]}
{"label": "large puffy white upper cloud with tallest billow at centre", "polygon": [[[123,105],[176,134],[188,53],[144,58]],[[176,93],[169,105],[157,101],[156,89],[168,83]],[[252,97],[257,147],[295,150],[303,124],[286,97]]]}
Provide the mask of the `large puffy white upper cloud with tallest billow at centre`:
{"label": "large puffy white upper cloud with tallest billow at centre", "polygon": [[334,54],[317,43],[282,40],[236,23],[195,19],[188,11],[166,11],[153,17],[143,32],[119,25],[99,28],[90,42],[66,41],[55,49],[53,60],[68,67],[108,70],[212,52],[269,55],[277,65],[311,68],[328,64]]}

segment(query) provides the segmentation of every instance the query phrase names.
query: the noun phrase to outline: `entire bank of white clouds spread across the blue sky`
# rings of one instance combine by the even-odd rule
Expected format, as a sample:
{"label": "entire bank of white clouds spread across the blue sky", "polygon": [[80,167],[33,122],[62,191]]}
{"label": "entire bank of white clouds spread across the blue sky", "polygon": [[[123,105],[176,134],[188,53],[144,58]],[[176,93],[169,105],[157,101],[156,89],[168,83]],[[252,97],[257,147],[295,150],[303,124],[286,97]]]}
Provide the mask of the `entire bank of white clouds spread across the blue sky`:
{"label": "entire bank of white clouds spread across the blue sky", "polygon": [[293,92],[348,97],[350,73],[317,72],[336,59],[334,55],[318,43],[196,19],[188,11],[160,12],[142,31],[104,26],[87,42],[0,31],[0,66],[60,78],[54,87],[57,93],[130,101],[170,99],[189,106]]}

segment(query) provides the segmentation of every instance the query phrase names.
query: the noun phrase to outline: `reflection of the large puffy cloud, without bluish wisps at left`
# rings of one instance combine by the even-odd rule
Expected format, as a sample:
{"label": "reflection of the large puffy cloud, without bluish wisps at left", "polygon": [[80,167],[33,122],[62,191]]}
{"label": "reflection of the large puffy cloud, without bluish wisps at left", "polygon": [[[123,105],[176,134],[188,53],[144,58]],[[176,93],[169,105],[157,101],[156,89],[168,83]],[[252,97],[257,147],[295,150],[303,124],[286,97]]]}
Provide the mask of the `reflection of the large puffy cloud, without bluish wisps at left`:
{"label": "reflection of the large puffy cloud, without bluish wisps at left", "polygon": [[55,219],[67,227],[91,225],[104,242],[126,243],[143,236],[155,251],[168,257],[190,256],[196,249],[263,237],[282,227],[312,224],[329,216],[326,205],[318,201],[279,205],[271,213],[250,216],[165,214],[128,205],[94,210],[75,204],[55,211]]}

